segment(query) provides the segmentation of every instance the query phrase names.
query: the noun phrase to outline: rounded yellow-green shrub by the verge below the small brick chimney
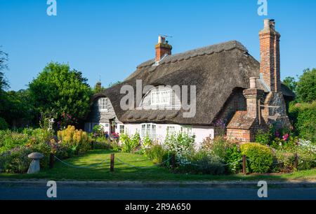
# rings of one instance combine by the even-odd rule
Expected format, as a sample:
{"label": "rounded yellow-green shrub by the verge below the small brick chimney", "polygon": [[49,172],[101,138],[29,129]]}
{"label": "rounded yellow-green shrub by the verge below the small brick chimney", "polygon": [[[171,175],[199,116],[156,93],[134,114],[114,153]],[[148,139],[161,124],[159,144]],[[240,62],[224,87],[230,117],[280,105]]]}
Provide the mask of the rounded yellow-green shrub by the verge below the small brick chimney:
{"label": "rounded yellow-green shrub by the verge below the small brick chimney", "polygon": [[246,155],[249,159],[249,171],[255,173],[267,173],[273,163],[272,150],[260,143],[244,143],[240,150],[242,155]]}

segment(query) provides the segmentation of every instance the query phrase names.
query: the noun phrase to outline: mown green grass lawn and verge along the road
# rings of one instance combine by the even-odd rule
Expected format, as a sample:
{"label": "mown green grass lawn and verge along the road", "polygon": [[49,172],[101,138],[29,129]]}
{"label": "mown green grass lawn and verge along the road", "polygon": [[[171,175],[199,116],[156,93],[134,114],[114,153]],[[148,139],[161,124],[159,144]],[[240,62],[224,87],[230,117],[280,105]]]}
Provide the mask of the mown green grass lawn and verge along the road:
{"label": "mown green grass lawn and verge along the road", "polygon": [[[143,155],[116,153],[123,162],[145,168],[134,168],[115,161],[114,172],[110,172],[110,150],[93,150],[81,157],[67,159],[65,162],[75,166],[88,166],[105,160],[105,163],[89,168],[78,169],[55,163],[53,169],[46,169],[33,175],[0,173],[0,179],[44,178],[50,180],[140,180],[140,181],[193,181],[193,180],[316,180],[316,169],[290,174],[231,176],[187,175],[172,173],[169,169],[155,166]],[[146,167],[147,166],[147,167]]]}

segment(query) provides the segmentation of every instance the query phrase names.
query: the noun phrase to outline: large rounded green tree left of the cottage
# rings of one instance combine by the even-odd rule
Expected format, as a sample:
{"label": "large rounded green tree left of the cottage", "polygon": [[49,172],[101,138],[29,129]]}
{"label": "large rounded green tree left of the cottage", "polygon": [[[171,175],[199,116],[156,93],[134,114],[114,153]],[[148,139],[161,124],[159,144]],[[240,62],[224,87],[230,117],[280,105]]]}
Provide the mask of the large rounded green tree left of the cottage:
{"label": "large rounded green tree left of the cottage", "polygon": [[51,62],[29,83],[34,107],[42,114],[71,124],[83,120],[90,109],[91,88],[82,73],[70,70],[68,64]]}

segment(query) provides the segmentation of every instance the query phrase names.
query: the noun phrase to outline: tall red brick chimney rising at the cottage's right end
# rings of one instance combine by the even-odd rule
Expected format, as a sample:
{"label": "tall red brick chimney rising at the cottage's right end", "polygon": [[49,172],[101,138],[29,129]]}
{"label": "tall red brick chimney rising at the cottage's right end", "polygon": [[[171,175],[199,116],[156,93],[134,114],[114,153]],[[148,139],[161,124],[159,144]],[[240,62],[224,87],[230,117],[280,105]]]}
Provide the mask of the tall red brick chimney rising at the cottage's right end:
{"label": "tall red brick chimney rising at the cottage's right end", "polygon": [[259,32],[260,38],[260,73],[271,92],[281,90],[279,66],[279,38],[275,31],[275,20],[264,20],[264,27]]}

